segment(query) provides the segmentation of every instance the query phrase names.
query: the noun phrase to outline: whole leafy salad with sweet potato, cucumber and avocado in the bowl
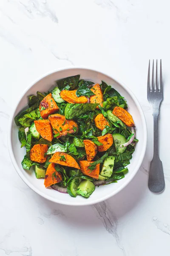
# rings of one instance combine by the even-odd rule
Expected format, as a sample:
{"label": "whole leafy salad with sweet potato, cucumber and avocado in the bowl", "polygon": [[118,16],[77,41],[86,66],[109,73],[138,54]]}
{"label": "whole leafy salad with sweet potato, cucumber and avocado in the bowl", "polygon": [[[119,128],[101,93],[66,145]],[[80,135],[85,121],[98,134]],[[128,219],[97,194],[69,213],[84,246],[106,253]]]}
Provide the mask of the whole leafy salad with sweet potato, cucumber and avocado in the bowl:
{"label": "whole leafy salad with sweet potato, cucumber and avocado in the bowl", "polygon": [[45,188],[72,197],[88,198],[95,186],[124,178],[138,142],[124,97],[104,81],[80,75],[29,96],[28,108],[14,120],[26,147],[23,169],[33,166]]}

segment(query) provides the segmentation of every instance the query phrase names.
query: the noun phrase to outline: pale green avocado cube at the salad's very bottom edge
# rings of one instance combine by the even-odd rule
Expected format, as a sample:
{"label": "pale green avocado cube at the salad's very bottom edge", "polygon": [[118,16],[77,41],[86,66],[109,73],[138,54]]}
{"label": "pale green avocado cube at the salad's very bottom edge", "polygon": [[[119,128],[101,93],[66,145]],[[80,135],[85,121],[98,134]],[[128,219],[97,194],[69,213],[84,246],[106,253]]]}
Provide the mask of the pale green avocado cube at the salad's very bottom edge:
{"label": "pale green avocado cube at the salad's very bottom edge", "polygon": [[88,198],[95,190],[95,185],[90,180],[84,180],[82,181],[78,188],[77,188],[77,194],[82,195],[85,198]]}

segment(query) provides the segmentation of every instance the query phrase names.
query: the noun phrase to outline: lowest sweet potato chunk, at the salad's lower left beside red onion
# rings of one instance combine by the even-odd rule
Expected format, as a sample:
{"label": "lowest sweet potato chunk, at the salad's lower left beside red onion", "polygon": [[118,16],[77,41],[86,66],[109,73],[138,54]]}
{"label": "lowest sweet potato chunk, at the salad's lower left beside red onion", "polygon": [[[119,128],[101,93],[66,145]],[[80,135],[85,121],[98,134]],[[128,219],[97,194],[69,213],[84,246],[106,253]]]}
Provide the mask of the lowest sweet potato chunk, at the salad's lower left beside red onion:
{"label": "lowest sweet potato chunk, at the salad's lower left beside red onion", "polygon": [[56,171],[55,163],[50,163],[45,173],[45,179],[44,179],[45,187],[51,186],[61,181],[62,181],[62,175],[61,173]]}

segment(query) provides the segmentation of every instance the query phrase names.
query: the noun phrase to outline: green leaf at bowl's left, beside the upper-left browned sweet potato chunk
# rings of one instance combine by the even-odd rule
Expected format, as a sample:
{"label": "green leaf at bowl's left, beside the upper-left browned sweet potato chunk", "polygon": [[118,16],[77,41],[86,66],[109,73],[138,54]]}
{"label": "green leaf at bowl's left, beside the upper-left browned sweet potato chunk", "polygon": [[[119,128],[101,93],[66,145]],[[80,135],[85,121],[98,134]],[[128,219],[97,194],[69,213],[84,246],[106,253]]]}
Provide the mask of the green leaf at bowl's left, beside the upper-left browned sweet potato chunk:
{"label": "green leaf at bowl's left, beside the upper-left browned sweet potato chunk", "polygon": [[18,119],[18,122],[22,126],[29,127],[31,125],[31,123],[34,120],[37,120],[38,118],[40,118],[40,116],[41,116],[40,111],[37,108],[36,110],[33,110],[30,113],[26,113],[25,115],[23,115],[20,119]]}

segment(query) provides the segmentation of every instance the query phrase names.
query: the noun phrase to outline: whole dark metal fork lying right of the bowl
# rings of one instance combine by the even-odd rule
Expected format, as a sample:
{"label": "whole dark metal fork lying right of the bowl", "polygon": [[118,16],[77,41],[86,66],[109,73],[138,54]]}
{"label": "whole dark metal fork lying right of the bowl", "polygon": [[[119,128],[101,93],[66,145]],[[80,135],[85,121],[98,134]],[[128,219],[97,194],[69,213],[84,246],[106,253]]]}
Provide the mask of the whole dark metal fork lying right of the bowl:
{"label": "whole dark metal fork lying right of the bowl", "polygon": [[150,61],[147,77],[147,100],[152,107],[153,114],[153,160],[150,162],[149,181],[148,186],[150,191],[159,193],[164,189],[164,173],[162,162],[159,159],[158,147],[158,116],[159,107],[163,100],[162,87],[162,64],[160,62],[160,84],[158,83],[158,61],[156,60],[156,84],[154,83],[154,61],[152,68],[152,84],[150,86]]}

